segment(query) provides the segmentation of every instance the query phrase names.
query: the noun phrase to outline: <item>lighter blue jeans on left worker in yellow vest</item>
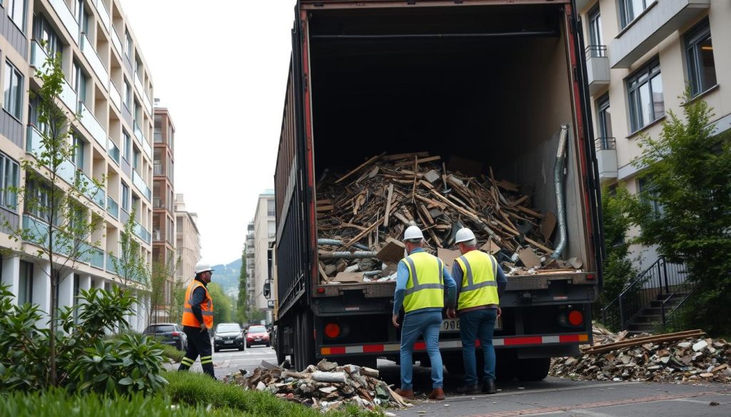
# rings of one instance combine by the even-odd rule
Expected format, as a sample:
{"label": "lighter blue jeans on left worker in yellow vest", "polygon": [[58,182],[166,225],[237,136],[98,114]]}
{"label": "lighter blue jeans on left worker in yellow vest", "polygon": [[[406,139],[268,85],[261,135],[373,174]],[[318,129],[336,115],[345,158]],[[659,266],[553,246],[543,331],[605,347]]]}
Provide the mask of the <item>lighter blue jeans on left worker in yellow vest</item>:
{"label": "lighter blue jeans on left worker in yellow vest", "polygon": [[439,353],[439,329],[442,327],[441,311],[424,311],[404,316],[401,325],[401,389],[413,389],[414,343],[423,335],[426,351],[431,359],[433,388],[442,388],[442,353]]}

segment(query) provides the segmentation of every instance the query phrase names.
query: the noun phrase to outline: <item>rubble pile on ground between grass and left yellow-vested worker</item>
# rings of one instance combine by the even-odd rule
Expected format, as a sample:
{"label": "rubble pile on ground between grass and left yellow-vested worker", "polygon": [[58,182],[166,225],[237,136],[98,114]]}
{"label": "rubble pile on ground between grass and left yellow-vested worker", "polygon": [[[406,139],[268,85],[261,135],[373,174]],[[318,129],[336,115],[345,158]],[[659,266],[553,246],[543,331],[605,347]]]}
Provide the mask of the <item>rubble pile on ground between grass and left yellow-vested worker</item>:
{"label": "rubble pile on ground between grass and left yellow-vested worker", "polygon": [[[283,364],[284,365],[284,364]],[[251,372],[241,370],[227,377],[244,389],[267,391],[282,399],[323,411],[355,404],[362,408],[402,408],[409,406],[382,380],[378,370],[355,365],[339,366],[322,359],[303,372],[262,361]]]}

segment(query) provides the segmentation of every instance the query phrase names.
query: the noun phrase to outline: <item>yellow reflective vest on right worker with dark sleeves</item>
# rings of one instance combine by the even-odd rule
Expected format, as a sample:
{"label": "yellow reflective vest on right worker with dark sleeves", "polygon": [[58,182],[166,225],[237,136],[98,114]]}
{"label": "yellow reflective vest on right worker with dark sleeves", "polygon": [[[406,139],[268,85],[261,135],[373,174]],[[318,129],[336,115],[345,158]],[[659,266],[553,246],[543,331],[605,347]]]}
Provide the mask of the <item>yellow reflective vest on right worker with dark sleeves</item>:
{"label": "yellow reflective vest on right worker with dark sleeves", "polygon": [[462,269],[458,310],[500,304],[496,281],[498,262],[492,255],[480,250],[470,250],[455,261]]}

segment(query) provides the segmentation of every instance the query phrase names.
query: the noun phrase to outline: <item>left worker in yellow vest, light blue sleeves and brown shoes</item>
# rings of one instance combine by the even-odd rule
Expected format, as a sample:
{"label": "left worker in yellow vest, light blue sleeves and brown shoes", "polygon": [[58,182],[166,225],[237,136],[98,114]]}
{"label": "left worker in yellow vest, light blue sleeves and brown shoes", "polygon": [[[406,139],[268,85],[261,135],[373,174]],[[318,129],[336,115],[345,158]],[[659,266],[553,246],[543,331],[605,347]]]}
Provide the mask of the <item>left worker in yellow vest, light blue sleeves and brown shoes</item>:
{"label": "left worker in yellow vest, light blue sleeves and brown shoes", "polygon": [[398,263],[396,291],[393,300],[393,325],[399,327],[398,314],[404,307],[404,323],[401,328],[401,388],[396,393],[414,398],[412,385],[413,350],[419,336],[424,337],[426,351],[431,361],[433,391],[430,399],[443,400],[444,379],[442,354],[439,353],[439,329],[442,326],[444,288],[447,288],[447,305],[454,309],[456,284],[444,262],[423,249],[424,234],[417,226],[409,226],[404,232],[408,256]]}

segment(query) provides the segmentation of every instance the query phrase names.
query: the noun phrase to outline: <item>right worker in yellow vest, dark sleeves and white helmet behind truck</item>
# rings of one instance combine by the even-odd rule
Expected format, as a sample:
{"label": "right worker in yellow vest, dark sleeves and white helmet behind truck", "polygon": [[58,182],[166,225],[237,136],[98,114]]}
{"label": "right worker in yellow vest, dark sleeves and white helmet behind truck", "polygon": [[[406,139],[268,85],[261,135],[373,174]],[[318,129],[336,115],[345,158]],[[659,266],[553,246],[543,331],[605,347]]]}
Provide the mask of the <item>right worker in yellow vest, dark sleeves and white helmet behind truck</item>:
{"label": "right worker in yellow vest, dark sleeves and white helmet behind truck", "polygon": [[[474,233],[465,228],[455,234],[455,244],[462,253],[452,265],[452,276],[457,283],[457,308],[459,332],[462,339],[464,361],[464,386],[460,394],[479,394],[477,385],[477,359],[474,341],[480,340],[485,358],[485,375],[482,393],[495,394],[495,347],[493,329],[500,317],[500,297],[507,286],[507,279],[498,262],[489,253],[477,250]],[[455,318],[455,310],[448,309],[447,317]]]}

